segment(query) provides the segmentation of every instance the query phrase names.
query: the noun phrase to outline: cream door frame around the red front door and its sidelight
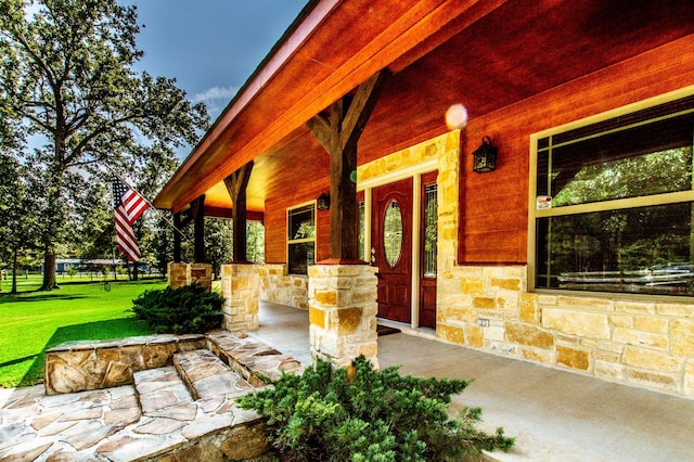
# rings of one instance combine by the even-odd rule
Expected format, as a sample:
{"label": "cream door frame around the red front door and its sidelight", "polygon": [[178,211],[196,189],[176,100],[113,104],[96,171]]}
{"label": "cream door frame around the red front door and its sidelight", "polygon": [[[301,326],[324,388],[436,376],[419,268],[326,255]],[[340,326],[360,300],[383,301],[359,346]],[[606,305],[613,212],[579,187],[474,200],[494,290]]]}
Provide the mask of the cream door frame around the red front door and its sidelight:
{"label": "cream door frame around the red front door and its sidelight", "polygon": [[[373,195],[372,190],[374,188],[383,187],[395,181],[404,180],[406,178],[412,178],[412,292],[411,292],[411,312],[410,312],[410,328],[420,328],[420,265],[421,265],[421,233],[414,232],[422,226],[422,175],[435,171],[438,169],[438,159],[429,159],[421,164],[416,164],[410,167],[404,167],[398,170],[394,170],[384,174],[378,177],[370,178],[364,181],[357,180],[357,191],[364,192],[364,255],[367,258],[371,258],[371,216],[373,210]],[[437,277],[438,279],[438,277]]]}

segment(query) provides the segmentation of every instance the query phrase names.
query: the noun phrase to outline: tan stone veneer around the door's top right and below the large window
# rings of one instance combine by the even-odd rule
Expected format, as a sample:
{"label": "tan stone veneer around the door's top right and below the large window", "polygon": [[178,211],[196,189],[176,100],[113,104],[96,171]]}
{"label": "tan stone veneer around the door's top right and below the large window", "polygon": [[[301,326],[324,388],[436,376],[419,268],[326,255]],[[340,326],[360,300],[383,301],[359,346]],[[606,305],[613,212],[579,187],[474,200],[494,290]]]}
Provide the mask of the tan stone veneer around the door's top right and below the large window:
{"label": "tan stone veneer around the door's top right and below the large window", "polygon": [[[364,164],[358,178],[378,178],[434,158],[439,172],[437,338],[694,398],[693,304],[528,293],[525,265],[457,265],[458,130]],[[489,320],[489,326],[478,319]]]}

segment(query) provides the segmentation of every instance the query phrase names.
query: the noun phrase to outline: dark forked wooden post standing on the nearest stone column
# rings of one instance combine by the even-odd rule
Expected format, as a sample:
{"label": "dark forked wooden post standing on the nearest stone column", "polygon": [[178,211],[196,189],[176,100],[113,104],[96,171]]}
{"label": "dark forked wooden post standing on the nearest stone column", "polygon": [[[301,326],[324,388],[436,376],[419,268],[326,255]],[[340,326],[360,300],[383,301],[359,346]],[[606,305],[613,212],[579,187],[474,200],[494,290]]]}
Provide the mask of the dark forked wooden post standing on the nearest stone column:
{"label": "dark forked wooden post standing on the nearest stone column", "polygon": [[330,155],[330,259],[359,258],[357,230],[357,144],[378,100],[389,73],[381,70],[357,87],[355,97],[343,97],[331,105],[330,120],[316,115],[307,126]]}

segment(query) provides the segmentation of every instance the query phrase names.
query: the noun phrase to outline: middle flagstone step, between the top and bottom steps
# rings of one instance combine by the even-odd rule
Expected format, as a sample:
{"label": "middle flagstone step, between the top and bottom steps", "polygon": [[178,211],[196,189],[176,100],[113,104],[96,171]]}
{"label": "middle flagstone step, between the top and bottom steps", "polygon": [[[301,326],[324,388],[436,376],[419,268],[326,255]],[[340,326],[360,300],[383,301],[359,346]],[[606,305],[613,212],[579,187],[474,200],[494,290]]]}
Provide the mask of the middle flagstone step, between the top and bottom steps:
{"label": "middle flagstone step, between the top and bottom steps", "polygon": [[233,399],[254,389],[253,385],[207,349],[174,355],[174,365],[195,400],[219,397]]}

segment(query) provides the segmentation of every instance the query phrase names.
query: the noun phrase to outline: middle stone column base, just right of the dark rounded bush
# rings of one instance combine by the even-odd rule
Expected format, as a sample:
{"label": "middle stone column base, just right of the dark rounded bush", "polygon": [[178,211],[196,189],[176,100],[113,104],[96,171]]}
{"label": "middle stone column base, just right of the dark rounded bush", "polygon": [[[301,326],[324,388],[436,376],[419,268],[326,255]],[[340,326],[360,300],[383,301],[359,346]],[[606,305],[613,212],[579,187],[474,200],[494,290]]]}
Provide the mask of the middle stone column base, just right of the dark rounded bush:
{"label": "middle stone column base, just right of the dark rounded bush", "polygon": [[226,330],[258,330],[260,275],[255,265],[222,265],[221,295],[224,297],[222,326]]}

